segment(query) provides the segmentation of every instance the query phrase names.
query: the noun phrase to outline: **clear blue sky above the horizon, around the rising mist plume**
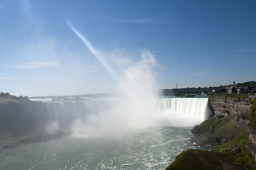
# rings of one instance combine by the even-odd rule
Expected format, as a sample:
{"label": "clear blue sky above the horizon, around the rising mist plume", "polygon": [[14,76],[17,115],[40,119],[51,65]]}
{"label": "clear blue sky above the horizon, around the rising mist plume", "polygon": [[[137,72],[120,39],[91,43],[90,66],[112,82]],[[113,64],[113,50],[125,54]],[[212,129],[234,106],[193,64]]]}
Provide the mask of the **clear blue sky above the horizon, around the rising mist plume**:
{"label": "clear blue sky above the horizon, around the rising mist plume", "polygon": [[256,1],[0,0],[0,91],[113,92],[145,51],[159,89],[256,81]]}

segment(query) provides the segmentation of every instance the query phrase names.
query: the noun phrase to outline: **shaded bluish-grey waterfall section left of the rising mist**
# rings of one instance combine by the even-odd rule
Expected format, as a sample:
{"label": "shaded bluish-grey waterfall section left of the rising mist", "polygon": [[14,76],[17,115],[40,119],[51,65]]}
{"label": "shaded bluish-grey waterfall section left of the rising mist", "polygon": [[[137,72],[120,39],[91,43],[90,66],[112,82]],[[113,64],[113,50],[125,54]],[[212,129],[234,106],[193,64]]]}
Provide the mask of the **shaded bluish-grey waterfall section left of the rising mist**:
{"label": "shaded bluish-grey waterfall section left of the rising mist", "polygon": [[87,98],[80,101],[47,101],[47,132],[69,130],[75,120],[85,122],[90,115],[110,110],[112,98]]}

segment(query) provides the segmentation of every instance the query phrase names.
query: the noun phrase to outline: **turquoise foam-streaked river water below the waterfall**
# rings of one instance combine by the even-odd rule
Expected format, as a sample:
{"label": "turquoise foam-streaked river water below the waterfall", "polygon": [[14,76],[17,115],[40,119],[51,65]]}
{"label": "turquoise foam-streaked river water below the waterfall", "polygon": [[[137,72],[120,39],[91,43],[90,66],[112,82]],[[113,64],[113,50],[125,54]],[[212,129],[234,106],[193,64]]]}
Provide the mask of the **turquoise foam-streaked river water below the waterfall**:
{"label": "turquoise foam-streaked river water below the waterfall", "polygon": [[154,127],[112,137],[61,137],[0,149],[0,169],[165,169],[193,147],[191,128]]}

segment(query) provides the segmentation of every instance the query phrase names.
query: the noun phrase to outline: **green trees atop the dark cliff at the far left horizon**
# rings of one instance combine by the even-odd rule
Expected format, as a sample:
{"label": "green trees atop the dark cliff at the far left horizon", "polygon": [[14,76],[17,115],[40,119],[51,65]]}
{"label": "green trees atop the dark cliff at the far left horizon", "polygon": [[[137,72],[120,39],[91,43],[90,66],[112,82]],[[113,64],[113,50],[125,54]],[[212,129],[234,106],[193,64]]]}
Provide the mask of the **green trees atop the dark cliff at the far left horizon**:
{"label": "green trees atop the dark cliff at the far left horizon", "polygon": [[11,94],[1,92],[0,94],[0,103],[18,103],[18,102],[28,102],[28,96],[13,96]]}

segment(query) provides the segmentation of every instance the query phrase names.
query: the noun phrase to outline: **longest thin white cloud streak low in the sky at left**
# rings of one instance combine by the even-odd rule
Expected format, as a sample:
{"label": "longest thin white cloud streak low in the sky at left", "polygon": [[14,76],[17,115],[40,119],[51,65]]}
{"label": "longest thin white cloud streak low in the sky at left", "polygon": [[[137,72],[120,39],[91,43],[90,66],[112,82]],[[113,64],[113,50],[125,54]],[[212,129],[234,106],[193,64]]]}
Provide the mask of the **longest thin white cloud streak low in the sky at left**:
{"label": "longest thin white cloud streak low in the sky at left", "polygon": [[58,67],[59,62],[26,62],[21,64],[9,65],[7,67],[14,69],[38,69],[43,67]]}

